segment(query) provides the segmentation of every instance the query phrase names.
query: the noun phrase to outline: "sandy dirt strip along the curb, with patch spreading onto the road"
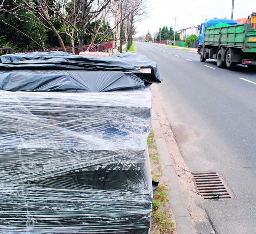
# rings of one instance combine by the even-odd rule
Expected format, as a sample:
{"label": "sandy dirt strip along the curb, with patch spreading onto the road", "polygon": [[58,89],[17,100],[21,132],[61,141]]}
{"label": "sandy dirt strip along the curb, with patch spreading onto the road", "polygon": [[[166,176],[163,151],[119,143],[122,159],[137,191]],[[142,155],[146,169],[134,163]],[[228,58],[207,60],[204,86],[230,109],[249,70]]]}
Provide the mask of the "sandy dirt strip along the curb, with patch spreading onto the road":
{"label": "sandy dirt strip along the curb, with patch spreading onto the road", "polygon": [[158,102],[157,96],[154,93],[154,85],[151,86],[154,108],[158,116],[162,131],[164,133],[164,138],[166,145],[169,151],[169,154],[172,158],[176,174],[178,175],[178,180],[180,187],[182,189],[182,194],[186,201],[186,206],[192,220],[192,224],[196,229],[198,223],[203,223],[203,226],[207,226],[208,229],[212,229],[208,216],[202,208],[198,206],[200,203],[201,196],[196,191],[192,173],[189,171],[189,168],[186,166],[184,158],[180,153],[176,139],[172,128],[177,133],[179,137],[179,142],[188,143],[193,142],[195,138],[200,137],[198,132],[194,129],[189,128],[185,124],[173,124],[171,126],[170,122],[167,120],[164,111]]}

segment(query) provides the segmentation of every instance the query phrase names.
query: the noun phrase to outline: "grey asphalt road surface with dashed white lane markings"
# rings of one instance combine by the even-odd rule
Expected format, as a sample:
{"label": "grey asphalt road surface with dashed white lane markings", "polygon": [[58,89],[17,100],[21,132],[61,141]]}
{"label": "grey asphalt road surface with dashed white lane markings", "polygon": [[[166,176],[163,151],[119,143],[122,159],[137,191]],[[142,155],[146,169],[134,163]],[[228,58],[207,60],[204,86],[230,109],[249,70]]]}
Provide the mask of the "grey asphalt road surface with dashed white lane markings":
{"label": "grey asphalt road surface with dashed white lane markings", "polygon": [[154,88],[190,171],[220,172],[234,192],[234,199],[200,202],[217,233],[256,233],[256,72],[242,65],[221,69],[188,51],[135,45],[158,64],[164,81]]}

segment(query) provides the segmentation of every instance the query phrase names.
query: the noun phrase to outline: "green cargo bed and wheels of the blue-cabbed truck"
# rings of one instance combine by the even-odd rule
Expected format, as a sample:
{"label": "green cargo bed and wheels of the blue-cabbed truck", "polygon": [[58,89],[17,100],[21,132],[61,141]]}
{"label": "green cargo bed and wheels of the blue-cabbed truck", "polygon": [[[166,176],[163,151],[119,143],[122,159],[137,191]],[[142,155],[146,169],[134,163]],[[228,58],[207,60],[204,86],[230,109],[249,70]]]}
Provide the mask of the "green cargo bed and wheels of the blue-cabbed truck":
{"label": "green cargo bed and wheels of the blue-cabbed truck", "polygon": [[204,30],[198,45],[200,61],[216,59],[219,68],[232,69],[236,64],[256,70],[256,28],[247,24],[211,26]]}

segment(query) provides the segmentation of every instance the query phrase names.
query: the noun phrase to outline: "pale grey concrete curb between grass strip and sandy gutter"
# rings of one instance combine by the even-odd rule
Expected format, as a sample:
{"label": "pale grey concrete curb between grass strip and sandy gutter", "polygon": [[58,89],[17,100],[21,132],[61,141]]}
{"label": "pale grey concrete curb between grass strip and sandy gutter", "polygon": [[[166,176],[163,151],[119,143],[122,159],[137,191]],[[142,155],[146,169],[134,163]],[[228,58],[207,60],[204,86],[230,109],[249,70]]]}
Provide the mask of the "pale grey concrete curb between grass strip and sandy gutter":
{"label": "pale grey concrete curb between grass strip and sandy gutter", "polygon": [[154,105],[152,105],[151,126],[156,139],[162,173],[169,179],[166,185],[170,188],[168,193],[170,199],[169,206],[175,218],[176,231],[178,234],[195,234]]}

